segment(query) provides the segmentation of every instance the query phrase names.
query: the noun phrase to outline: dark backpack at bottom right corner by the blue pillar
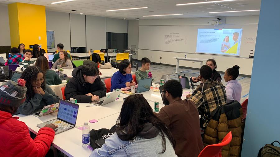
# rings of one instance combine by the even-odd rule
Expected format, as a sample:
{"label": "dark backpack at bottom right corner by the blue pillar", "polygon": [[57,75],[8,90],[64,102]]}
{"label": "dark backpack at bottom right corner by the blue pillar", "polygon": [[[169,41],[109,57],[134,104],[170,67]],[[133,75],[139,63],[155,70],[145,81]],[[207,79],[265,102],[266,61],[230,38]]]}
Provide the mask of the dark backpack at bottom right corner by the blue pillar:
{"label": "dark backpack at bottom right corner by the blue pillar", "polygon": [[[278,141],[274,141],[279,143]],[[274,146],[272,142],[271,144],[266,144],[259,150],[258,157],[280,157],[280,147]],[[280,143],[279,143],[280,145]]]}

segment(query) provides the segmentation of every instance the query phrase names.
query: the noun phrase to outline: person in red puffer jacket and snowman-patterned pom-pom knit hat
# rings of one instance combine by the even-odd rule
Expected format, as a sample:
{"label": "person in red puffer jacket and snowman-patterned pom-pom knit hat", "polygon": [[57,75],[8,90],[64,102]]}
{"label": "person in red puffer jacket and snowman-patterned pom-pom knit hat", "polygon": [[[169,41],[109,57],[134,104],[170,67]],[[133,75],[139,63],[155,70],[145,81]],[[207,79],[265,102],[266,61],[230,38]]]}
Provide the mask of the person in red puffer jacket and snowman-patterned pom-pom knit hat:
{"label": "person in red puffer jacket and snowman-patterned pom-pom knit hat", "polygon": [[54,124],[40,128],[33,140],[26,124],[12,116],[26,99],[25,83],[19,79],[0,86],[0,156],[45,156],[54,140]]}

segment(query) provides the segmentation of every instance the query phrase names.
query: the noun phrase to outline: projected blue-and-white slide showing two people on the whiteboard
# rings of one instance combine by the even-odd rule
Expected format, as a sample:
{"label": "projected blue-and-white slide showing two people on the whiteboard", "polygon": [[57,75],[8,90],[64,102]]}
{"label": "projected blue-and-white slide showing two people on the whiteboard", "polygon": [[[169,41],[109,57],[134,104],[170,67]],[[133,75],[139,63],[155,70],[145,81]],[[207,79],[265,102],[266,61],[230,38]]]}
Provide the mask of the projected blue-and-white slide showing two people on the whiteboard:
{"label": "projected blue-and-white slide showing two people on the whiteboard", "polygon": [[197,53],[239,56],[242,29],[198,29]]}

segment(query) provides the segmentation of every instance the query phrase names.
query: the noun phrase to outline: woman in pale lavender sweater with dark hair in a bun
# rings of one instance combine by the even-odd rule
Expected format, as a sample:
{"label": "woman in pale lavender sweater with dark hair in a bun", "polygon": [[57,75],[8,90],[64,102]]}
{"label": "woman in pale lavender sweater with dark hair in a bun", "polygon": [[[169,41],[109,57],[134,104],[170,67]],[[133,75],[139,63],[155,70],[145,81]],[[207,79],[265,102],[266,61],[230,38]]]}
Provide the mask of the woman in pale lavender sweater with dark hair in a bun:
{"label": "woman in pale lavender sweater with dark hair in a bun", "polygon": [[234,65],[232,68],[228,68],[225,71],[224,79],[227,82],[226,85],[226,102],[237,100],[240,103],[241,99],[241,84],[236,80],[239,75],[239,66]]}

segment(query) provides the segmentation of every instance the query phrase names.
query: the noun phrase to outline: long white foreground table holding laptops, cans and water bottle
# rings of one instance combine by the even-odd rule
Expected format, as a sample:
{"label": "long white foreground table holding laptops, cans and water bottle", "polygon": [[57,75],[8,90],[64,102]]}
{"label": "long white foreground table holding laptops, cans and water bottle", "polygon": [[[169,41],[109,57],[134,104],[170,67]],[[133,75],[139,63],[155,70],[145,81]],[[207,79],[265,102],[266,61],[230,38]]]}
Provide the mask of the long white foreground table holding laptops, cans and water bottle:
{"label": "long white foreground table holding laptops, cans and water bottle", "polygon": [[[185,95],[190,92],[189,89],[183,90],[184,99]],[[154,101],[158,101],[160,103],[159,109],[164,107],[162,103],[162,99],[160,96],[160,92],[154,92],[152,90],[147,92],[142,92],[143,96],[147,99],[148,103],[151,105],[152,109],[154,110]],[[62,151],[67,156],[89,156],[91,154],[91,150],[82,147],[82,130],[78,129],[81,127],[84,122],[96,119],[98,122],[96,123],[89,123],[91,129],[101,129],[101,128],[108,128],[110,129],[114,124],[116,124],[116,120],[119,116],[123,98],[127,97],[127,94],[120,94],[120,97],[109,104],[103,106],[91,106],[86,107],[86,105],[91,105],[88,103],[78,103],[79,110],[77,115],[77,123],[75,128],[70,130],[61,132],[55,135],[53,146],[54,148]],[[48,120],[55,119],[57,117],[57,113],[49,114],[43,117],[35,117],[33,115],[16,115],[20,117],[20,121],[23,121],[28,126],[29,130],[35,134],[39,131],[40,128],[37,127],[37,124],[46,122]]]}

